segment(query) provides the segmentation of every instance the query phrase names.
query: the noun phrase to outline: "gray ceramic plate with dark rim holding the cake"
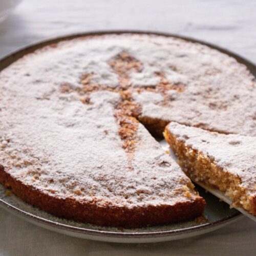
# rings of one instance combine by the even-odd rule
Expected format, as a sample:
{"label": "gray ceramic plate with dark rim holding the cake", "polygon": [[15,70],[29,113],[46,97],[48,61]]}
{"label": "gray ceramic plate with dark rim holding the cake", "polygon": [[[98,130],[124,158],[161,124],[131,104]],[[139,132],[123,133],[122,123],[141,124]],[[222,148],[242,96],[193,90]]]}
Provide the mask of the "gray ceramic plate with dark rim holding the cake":
{"label": "gray ceramic plate with dark rim holding the cake", "polygon": [[[95,33],[84,33],[79,35],[71,35],[56,39],[47,40],[40,42],[39,44],[29,46],[28,48],[22,49],[15,53],[9,54],[7,57],[0,60],[0,71],[7,66],[9,66],[13,61],[18,58],[33,52],[41,47],[54,44],[60,40],[72,39],[79,36],[85,35],[98,35],[105,33],[148,33],[148,32],[138,32],[138,31],[114,31],[114,32],[95,32]],[[152,33],[152,32],[150,32]],[[164,33],[153,33],[160,34],[164,36],[176,36],[172,34]],[[185,40],[200,42],[191,38],[185,38],[181,36],[176,36]],[[208,45],[211,48],[215,48],[221,52],[224,52],[234,58],[239,62],[247,66],[251,73],[256,77],[256,67],[249,61],[237,56],[236,54],[230,53],[224,49],[216,46]],[[192,236],[197,236],[199,234],[207,233],[212,230],[218,229],[228,223],[238,220],[243,216],[236,209],[230,209],[229,205],[220,202],[218,198],[211,195],[210,193],[205,193],[203,188],[197,186],[199,193],[205,198],[207,206],[205,209],[205,216],[208,221],[204,223],[199,223],[197,221],[187,221],[178,224],[169,224],[164,226],[156,227],[146,227],[139,229],[117,229],[109,227],[99,227],[95,225],[90,225],[87,223],[77,223],[74,221],[64,220],[47,214],[37,208],[34,208],[14,195],[6,196],[6,190],[2,185],[0,185],[0,206],[5,208],[12,214],[21,217],[35,225],[59,232],[68,234],[70,236],[92,239],[98,241],[108,241],[108,242],[120,242],[120,243],[149,243],[149,242],[161,242],[176,240],[181,238],[187,238]]]}

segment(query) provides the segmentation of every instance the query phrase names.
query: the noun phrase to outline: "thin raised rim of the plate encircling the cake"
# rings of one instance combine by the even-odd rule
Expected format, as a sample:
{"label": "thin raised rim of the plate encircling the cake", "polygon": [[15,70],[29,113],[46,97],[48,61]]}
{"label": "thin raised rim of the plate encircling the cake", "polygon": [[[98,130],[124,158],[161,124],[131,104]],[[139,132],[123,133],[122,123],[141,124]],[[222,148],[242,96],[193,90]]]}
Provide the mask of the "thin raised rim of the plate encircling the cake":
{"label": "thin raised rim of the plate encircling the cake", "polygon": [[[222,53],[227,54],[228,56],[235,58],[238,62],[245,65],[247,69],[252,73],[252,75],[256,76],[256,66],[254,65],[253,62],[225,48],[216,46],[214,44],[210,44],[208,42],[205,42],[203,40],[199,40],[193,37],[187,37],[187,36],[173,34],[173,33],[159,32],[159,31],[144,31],[144,30],[89,31],[89,32],[81,32],[81,33],[72,33],[68,35],[50,37],[44,40],[39,40],[39,41],[33,42],[32,44],[26,45],[25,47],[21,47],[15,51],[11,51],[10,53],[5,54],[3,57],[1,57],[0,71],[7,68],[9,65],[11,65],[11,63],[23,57],[24,55],[32,53],[35,50],[40,49],[42,47],[55,44],[59,41],[71,40],[71,39],[84,37],[84,36],[97,36],[97,35],[107,35],[107,34],[147,34],[147,35],[152,34],[152,35],[160,35],[165,37],[176,37],[186,41],[199,43],[202,45],[206,45],[212,49],[216,49]],[[2,208],[7,209],[8,211],[13,212],[13,214],[15,215],[18,215],[20,217],[25,217],[26,219],[28,218],[31,221],[35,221],[36,223],[42,224],[44,226],[66,230],[69,232],[75,232],[79,234],[87,234],[90,236],[104,236],[104,237],[111,237],[111,238],[161,238],[161,237],[170,237],[170,236],[173,237],[177,234],[179,235],[187,234],[187,233],[199,231],[202,229],[209,229],[213,226],[217,227],[219,225],[223,225],[225,223],[228,223],[230,221],[233,221],[235,219],[242,217],[242,214],[238,211],[231,216],[227,216],[225,218],[222,218],[214,222],[199,224],[198,226],[194,226],[194,227],[188,227],[188,228],[182,228],[182,229],[176,229],[176,230],[155,231],[155,232],[122,232],[122,231],[116,232],[116,231],[104,231],[104,230],[94,230],[89,228],[74,227],[71,225],[54,222],[54,221],[33,215],[30,212],[24,211],[22,209],[19,209],[9,204],[8,202],[4,201],[3,199],[0,199],[0,206]]]}

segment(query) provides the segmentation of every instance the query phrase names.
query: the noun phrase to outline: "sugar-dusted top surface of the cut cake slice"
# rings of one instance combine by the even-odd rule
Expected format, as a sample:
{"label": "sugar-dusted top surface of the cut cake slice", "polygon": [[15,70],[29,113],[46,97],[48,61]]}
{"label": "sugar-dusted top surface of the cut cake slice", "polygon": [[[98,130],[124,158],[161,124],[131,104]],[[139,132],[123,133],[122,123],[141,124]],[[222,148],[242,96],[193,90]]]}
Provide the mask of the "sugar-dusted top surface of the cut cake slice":
{"label": "sugar-dusted top surface of the cut cake slice", "polygon": [[176,122],[169,123],[167,129],[188,147],[213,159],[225,172],[238,176],[242,185],[256,194],[256,137],[219,134]]}

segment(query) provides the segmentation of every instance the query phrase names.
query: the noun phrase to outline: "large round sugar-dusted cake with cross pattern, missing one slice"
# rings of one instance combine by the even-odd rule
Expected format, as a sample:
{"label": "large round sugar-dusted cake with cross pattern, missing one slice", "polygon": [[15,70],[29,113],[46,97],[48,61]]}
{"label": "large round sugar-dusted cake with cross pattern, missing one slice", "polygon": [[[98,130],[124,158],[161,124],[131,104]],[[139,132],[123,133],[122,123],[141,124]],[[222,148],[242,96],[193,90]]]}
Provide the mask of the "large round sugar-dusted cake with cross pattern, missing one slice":
{"label": "large round sugar-dusted cake with cross pattern, missing one slice", "polygon": [[0,73],[0,182],[53,215],[139,227],[205,201],[153,136],[170,121],[255,136],[253,76],[201,44],[150,34],[60,41]]}

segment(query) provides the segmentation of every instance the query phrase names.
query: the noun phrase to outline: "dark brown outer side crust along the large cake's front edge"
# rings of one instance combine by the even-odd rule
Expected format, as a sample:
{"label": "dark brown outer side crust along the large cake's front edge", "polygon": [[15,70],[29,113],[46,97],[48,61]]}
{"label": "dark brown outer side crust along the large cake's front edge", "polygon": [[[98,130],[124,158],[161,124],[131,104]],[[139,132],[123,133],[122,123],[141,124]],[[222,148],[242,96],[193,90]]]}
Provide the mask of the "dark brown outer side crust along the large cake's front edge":
{"label": "dark brown outer side crust along the large cake's front edge", "polygon": [[161,225],[180,222],[201,216],[205,201],[198,197],[194,201],[175,205],[148,207],[99,207],[94,202],[78,202],[72,198],[60,199],[46,195],[32,186],[24,185],[6,173],[0,165],[0,182],[25,202],[39,207],[60,218],[89,222],[102,226],[137,228],[145,225]]}

